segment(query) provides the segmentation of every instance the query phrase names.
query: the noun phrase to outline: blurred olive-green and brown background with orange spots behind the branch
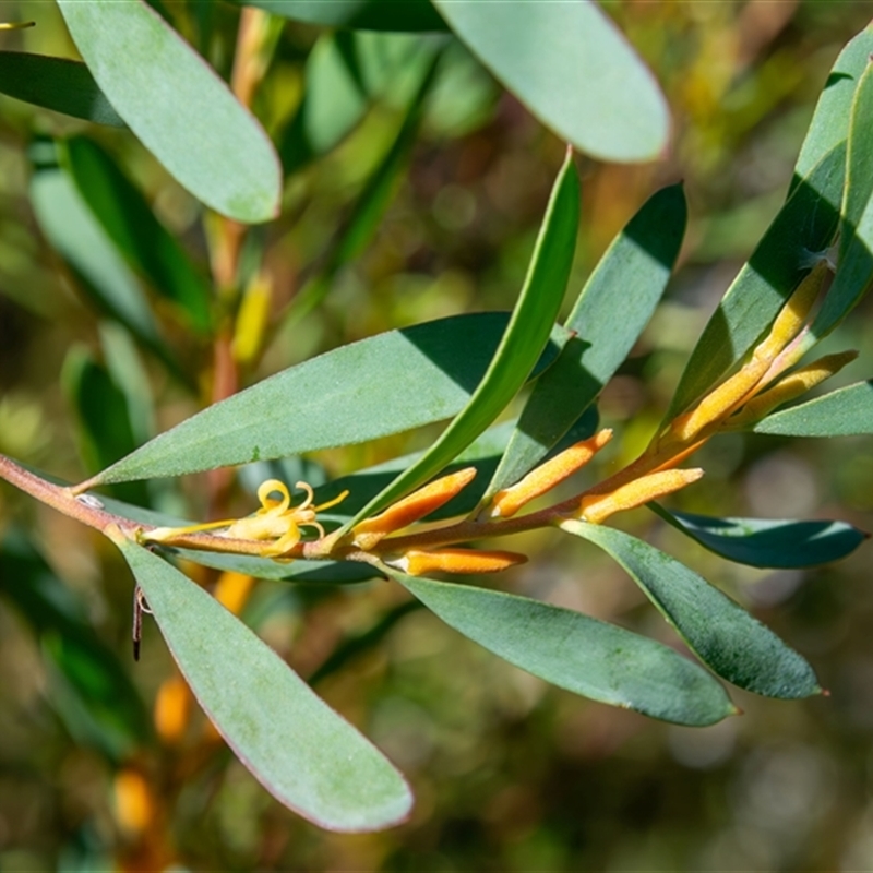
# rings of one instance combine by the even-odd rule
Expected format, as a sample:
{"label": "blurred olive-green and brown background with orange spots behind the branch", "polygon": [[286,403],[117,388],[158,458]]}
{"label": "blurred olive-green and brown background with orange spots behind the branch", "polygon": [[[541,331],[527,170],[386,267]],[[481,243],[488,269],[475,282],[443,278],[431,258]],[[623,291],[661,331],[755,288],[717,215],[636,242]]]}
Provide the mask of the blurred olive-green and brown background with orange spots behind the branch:
{"label": "blurred olive-green and brown background with orange spots behind the branch", "polygon": [[[226,74],[238,9],[164,5]],[[614,458],[638,451],[659,420],[708,314],[778,211],[827,71],[865,26],[873,3],[605,5],[659,80],[673,141],[662,160],[647,165],[578,158],[583,224],[567,306],[654,190],[681,179],[690,204],[677,275],[602,396],[601,420],[619,436]],[[0,33],[1,48],[75,57],[53,4],[2,2],[0,13],[38,22],[31,31]],[[253,103],[272,132],[294,115],[318,36],[292,23],[277,36]],[[272,279],[275,321],[246,382],[383,330],[512,306],[563,145],[459,49],[364,251],[336,271],[318,307],[296,306],[311,287],[312,264],[392,142],[405,87],[398,75],[337,148],[294,176],[283,217],[254,232]],[[93,447],[62,374],[75,356],[103,360],[130,345],[95,318],[40,235],[28,198],[27,148],[35,135],[86,128],[0,97],[0,451],[69,480],[89,471]],[[128,134],[87,133],[205,263],[196,203]],[[834,348],[861,350],[845,381],[871,372],[871,315],[862,304],[830,340]],[[207,397],[208,349],[177,338]],[[154,427],[196,411],[198,399],[158,364],[143,357],[140,366]],[[381,390],[390,394],[391,385]],[[322,453],[306,461],[307,478],[379,463],[427,445],[432,435]],[[707,476],[681,495],[683,509],[834,517],[873,529],[869,439],[733,435],[702,455]],[[246,492],[256,473],[239,477],[234,500],[242,512],[251,509]],[[151,498],[200,517],[203,493],[203,478],[190,477],[162,485]],[[111,548],[0,488],[0,529],[31,531],[63,581],[61,590],[74,596],[132,677],[143,717],[156,731],[119,752],[97,736],[99,719],[97,734],[85,730],[49,657],[51,639],[14,597],[0,597],[0,869],[873,870],[870,547],[839,565],[765,572],[704,552],[645,511],[621,524],[752,609],[813,663],[829,696],[784,703],[732,691],[743,716],[707,729],[679,728],[552,689],[408,607],[386,583],[261,582],[249,589],[246,581],[224,578],[219,584],[238,598],[247,621],[304,677],[320,671],[319,692],[411,780],[418,800],[409,823],[343,836],[280,808],[222,746],[191,708],[148,625],[143,660],[133,663],[132,583]],[[674,643],[639,591],[595,550],[551,534],[528,535],[521,546],[537,557],[505,574],[506,589]],[[25,583],[5,578],[0,590],[16,582]]]}

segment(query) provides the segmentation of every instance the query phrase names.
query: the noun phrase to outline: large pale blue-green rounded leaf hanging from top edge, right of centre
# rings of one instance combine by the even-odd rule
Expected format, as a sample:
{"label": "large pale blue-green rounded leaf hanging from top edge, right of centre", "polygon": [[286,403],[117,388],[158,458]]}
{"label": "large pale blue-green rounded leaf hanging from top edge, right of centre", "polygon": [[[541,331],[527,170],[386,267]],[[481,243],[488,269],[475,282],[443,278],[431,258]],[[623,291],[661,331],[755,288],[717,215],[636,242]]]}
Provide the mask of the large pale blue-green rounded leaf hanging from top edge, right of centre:
{"label": "large pale blue-green rounded leaf hanging from top edge, right of centre", "polygon": [[433,4],[498,81],[562,140],[606,160],[653,160],[666,148],[667,103],[595,3]]}

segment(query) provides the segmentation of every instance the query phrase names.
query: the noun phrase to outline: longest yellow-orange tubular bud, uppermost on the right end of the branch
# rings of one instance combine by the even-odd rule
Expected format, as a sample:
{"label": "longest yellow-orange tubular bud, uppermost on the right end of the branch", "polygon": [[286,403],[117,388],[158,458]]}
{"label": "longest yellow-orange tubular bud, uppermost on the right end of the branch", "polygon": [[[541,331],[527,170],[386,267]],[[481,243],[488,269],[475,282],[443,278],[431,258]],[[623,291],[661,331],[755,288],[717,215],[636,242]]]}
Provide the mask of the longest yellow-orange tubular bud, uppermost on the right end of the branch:
{"label": "longest yellow-orange tubular bud, uppermost on the right end of the branch", "polygon": [[[695,409],[679,416],[670,426],[668,441],[687,443],[709,424],[727,418],[746,399],[765,376],[770,364],[785,347],[800,333],[828,274],[826,261],[818,262],[800,283],[776,316],[769,334],[757,345],[751,360],[726,382],[704,397]],[[786,360],[785,366],[791,361]]]}

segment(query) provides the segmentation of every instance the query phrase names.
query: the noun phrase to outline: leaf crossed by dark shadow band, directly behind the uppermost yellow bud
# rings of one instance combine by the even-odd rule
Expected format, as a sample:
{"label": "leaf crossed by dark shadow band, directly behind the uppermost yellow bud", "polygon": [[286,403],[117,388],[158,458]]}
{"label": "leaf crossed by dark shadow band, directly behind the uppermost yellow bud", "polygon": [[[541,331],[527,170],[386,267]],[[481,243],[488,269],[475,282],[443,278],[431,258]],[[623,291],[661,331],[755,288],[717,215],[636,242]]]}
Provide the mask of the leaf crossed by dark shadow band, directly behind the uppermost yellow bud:
{"label": "leaf crossed by dark shadow band, directly behind the uppermost yellow bud", "polygon": [[774,218],[706,325],[670,404],[670,419],[711,387],[756,344],[812,266],[810,253],[834,238],[846,146],[833,148]]}

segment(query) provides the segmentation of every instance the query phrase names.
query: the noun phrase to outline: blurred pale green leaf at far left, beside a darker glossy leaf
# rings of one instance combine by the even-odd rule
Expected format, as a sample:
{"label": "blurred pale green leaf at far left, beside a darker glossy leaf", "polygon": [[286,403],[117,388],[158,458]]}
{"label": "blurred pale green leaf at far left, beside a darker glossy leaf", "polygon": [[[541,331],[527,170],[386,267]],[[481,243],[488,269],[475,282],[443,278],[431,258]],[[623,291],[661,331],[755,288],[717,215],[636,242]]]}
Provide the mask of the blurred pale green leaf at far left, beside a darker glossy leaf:
{"label": "blurred pale green leaf at far left, beside a darker glossy leaf", "polygon": [[135,276],[121,260],[70,177],[51,163],[53,143],[35,142],[31,146],[31,156],[34,163],[31,204],[46,239],[67,262],[91,300],[123,324],[175,373],[180,373],[160,339],[148,301]]}

